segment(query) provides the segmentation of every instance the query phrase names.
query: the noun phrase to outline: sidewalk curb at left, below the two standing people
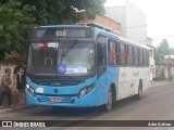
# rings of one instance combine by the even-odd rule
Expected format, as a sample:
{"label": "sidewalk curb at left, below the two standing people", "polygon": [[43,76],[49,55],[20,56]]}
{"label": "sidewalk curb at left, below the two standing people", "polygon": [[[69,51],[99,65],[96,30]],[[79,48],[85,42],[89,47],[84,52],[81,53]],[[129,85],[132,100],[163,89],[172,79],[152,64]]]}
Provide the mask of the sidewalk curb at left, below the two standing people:
{"label": "sidewalk curb at left, below the two standing people", "polygon": [[12,113],[12,112],[17,112],[21,109],[26,109],[33,107],[32,105],[21,105],[21,106],[14,106],[12,108],[4,108],[0,109],[0,114],[7,114],[7,113]]}

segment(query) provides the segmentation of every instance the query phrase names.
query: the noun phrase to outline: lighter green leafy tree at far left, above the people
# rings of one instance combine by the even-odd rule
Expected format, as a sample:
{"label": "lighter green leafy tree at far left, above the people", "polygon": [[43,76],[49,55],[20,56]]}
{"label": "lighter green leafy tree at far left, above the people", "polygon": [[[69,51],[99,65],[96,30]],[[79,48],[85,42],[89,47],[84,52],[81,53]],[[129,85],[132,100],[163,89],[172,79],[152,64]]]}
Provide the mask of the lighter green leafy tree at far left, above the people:
{"label": "lighter green leafy tree at far left, above the people", "polygon": [[3,0],[3,4],[0,4],[1,58],[5,52],[20,50],[21,44],[24,43],[29,28],[34,27],[35,18],[30,15],[33,11],[35,11],[35,6],[22,5],[22,2],[17,0]]}

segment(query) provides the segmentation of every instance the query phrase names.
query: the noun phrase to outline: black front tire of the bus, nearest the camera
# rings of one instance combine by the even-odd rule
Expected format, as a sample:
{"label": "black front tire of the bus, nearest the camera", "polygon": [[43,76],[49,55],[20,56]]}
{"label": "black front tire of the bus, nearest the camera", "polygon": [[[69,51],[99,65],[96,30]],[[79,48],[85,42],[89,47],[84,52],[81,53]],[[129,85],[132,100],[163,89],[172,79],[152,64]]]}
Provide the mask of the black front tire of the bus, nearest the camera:
{"label": "black front tire of the bus, nearest the camera", "polygon": [[113,87],[110,87],[109,92],[108,92],[108,102],[104,105],[104,110],[105,112],[112,110],[112,108],[115,105],[115,100],[114,99],[115,99],[115,91],[114,91]]}

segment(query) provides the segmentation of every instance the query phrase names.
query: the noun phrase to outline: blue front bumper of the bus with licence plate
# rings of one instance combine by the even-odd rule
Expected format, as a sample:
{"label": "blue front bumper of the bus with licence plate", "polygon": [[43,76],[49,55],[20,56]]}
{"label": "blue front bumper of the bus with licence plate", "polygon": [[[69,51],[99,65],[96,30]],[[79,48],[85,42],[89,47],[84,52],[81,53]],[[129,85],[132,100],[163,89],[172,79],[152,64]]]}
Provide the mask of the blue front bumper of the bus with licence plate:
{"label": "blue front bumper of the bus with licence plate", "polygon": [[63,107],[91,107],[97,106],[97,98],[95,91],[78,98],[61,95],[61,96],[49,96],[49,95],[32,95],[25,90],[26,104],[42,105],[42,106],[63,106]]}

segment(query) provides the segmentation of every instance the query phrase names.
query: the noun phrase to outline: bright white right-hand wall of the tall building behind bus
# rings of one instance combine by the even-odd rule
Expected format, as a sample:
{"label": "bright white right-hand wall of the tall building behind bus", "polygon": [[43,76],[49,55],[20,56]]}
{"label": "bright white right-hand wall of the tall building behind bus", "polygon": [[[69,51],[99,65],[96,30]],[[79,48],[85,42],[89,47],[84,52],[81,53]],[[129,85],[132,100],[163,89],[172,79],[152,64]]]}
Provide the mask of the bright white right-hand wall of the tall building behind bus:
{"label": "bright white right-hand wall of the tall building behind bus", "polygon": [[146,44],[146,15],[132,2],[126,3],[126,38]]}

